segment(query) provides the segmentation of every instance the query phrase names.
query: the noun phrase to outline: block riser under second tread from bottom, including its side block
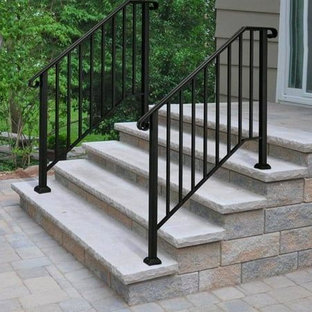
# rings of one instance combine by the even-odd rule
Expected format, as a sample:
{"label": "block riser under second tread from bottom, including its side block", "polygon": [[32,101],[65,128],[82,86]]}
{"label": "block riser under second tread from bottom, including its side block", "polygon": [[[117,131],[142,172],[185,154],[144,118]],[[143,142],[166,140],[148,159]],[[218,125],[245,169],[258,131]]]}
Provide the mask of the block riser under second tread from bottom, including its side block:
{"label": "block riser under second tread from bottom, including its side block", "polygon": [[[132,231],[147,240],[148,225],[144,226],[139,224],[136,220],[132,220],[130,216],[123,214],[115,207],[112,207],[107,202],[98,199],[93,194],[88,193],[87,191],[58,173],[55,173],[55,179],[63,184],[64,187],[67,187],[67,189],[77,193],[84,200],[87,200],[98,209],[105,211],[105,213],[107,213],[109,216],[112,216],[120,223],[122,223],[129,229],[132,229]],[[160,250],[164,250],[167,253],[171,254],[171,257],[179,263],[179,274],[195,272],[196,270],[207,270],[208,268],[214,268],[215,266],[219,265],[218,257],[216,255],[216,245],[220,245],[220,242],[205,243],[202,245],[191,246],[187,248],[175,248],[173,245],[166,242],[161,237],[159,237],[158,241]],[[210,254],[211,257],[209,257],[209,260],[207,261],[202,261],[202,257],[204,257],[205,254]],[[215,257],[213,257],[213,255],[215,255]]]}

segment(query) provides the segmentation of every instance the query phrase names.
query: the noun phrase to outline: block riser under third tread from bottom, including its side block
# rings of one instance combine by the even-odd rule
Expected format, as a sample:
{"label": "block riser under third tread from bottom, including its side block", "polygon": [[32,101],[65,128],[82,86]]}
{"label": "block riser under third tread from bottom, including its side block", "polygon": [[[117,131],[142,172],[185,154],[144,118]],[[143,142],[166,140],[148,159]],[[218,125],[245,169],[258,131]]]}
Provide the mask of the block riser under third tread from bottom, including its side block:
{"label": "block riser under third tread from bottom, including its side block", "polygon": [[[136,182],[141,187],[148,189],[148,177],[139,173],[130,171],[130,168],[119,166],[108,159],[103,159],[93,153],[88,153],[89,159],[101,166],[106,166],[112,171],[122,174],[130,178],[132,182]],[[159,195],[166,196],[166,183],[159,179]],[[171,189],[171,201],[177,202],[178,193],[176,187]],[[225,239],[235,239],[243,236],[257,235],[263,230],[263,209],[253,207],[252,211],[239,211],[236,213],[225,213],[218,211],[221,208],[211,208],[207,203],[200,203],[199,199],[192,198],[184,205],[184,208],[190,209],[198,216],[202,216],[207,220],[222,226],[225,229]],[[252,220],[252,221],[250,221]]]}

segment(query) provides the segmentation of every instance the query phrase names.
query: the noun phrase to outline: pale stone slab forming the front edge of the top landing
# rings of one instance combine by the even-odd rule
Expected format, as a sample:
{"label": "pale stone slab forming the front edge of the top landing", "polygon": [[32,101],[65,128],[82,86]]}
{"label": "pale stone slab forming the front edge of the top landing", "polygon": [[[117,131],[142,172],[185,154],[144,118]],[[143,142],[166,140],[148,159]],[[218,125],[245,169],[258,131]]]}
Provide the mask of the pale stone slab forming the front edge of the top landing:
{"label": "pale stone slab forming the front edge of the top landing", "polygon": [[[254,103],[257,104],[257,103]],[[243,103],[243,105],[248,106],[249,103]],[[214,127],[216,124],[215,117],[215,103],[208,104],[209,114],[207,115],[208,126]],[[237,103],[232,103],[233,112],[237,112]],[[203,104],[196,104],[196,123],[198,125],[203,125]],[[227,132],[227,103],[220,103],[220,130]],[[254,109],[254,113],[257,114],[257,108]],[[270,113],[270,111],[269,111]],[[159,110],[159,114],[166,116],[166,105]],[[171,116],[174,119],[179,119],[179,105],[171,104]],[[257,116],[254,116],[254,119]],[[183,106],[183,119],[184,121],[191,123],[191,104],[184,104]],[[248,136],[249,133],[249,119],[243,118],[242,123],[243,135]],[[258,135],[259,122],[254,120],[254,135]],[[237,134],[238,132],[238,119],[235,114],[232,114],[232,133]],[[277,146],[283,146],[285,148],[291,148],[293,150],[298,150],[302,153],[312,153],[312,139],[311,132],[306,132],[303,130],[298,130],[295,128],[283,127],[281,125],[274,125],[268,121],[268,143],[275,144]]]}

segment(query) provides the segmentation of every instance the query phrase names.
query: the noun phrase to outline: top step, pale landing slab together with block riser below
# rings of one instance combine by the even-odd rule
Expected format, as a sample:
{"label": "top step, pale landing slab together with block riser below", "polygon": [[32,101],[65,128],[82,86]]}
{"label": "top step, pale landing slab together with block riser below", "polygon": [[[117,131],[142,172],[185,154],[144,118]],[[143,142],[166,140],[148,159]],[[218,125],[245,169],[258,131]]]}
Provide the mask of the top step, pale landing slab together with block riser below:
{"label": "top step, pale landing slab together with block riser below", "polygon": [[[249,119],[248,116],[248,105],[249,103],[243,103],[243,137],[249,136]],[[237,118],[237,103],[232,103],[232,143],[238,141],[238,118]],[[270,108],[270,107],[269,107]],[[184,120],[184,131],[191,131],[191,104],[184,104],[183,120]],[[204,108],[203,104],[196,104],[196,132],[202,133],[202,127],[204,124]],[[259,135],[259,122],[257,118],[257,103],[254,107],[254,137]],[[208,104],[207,114],[207,125],[209,137],[214,137],[214,130],[216,129],[216,104]],[[270,110],[269,110],[270,113]],[[171,126],[173,128],[178,127],[178,121],[180,119],[179,105],[171,105]],[[166,124],[166,105],[159,110],[159,123],[162,125]],[[220,139],[223,142],[227,141],[227,103],[220,103]],[[250,141],[245,144],[245,148],[250,150],[257,150],[257,141]],[[311,133],[295,128],[287,128],[281,125],[275,125],[268,121],[268,154],[284,159],[287,161],[295,162],[304,166],[311,165],[311,157],[309,154],[312,153],[312,139]]]}

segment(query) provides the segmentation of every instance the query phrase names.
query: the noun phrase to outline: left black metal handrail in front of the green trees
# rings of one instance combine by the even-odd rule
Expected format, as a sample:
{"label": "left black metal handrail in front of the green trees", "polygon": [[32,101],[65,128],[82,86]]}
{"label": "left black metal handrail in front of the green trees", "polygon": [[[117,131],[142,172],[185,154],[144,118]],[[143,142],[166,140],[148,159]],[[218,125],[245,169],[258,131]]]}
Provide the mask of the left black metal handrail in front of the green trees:
{"label": "left black metal handrail in front of the green trees", "polygon": [[[127,35],[128,35],[128,17],[127,17],[127,7],[132,6],[132,84],[129,89],[131,92],[127,94],[126,90],[126,76],[127,76]],[[141,21],[138,21],[137,6],[141,6]],[[40,141],[39,141],[39,184],[35,187],[37,193],[49,193],[51,189],[47,186],[47,172],[61,159],[63,159],[69,151],[75,147],[82,139],[89,135],[92,130],[98,128],[101,122],[109,118],[114,114],[116,108],[119,107],[126,98],[130,96],[138,96],[141,98],[141,116],[143,116],[148,111],[148,93],[149,93],[149,28],[150,28],[150,17],[149,10],[156,10],[158,8],[157,1],[149,0],[127,0],[121,4],[118,8],[112,11],[105,19],[96,24],[90,31],[88,31],[83,37],[80,37],[76,42],[71,44],[68,49],[58,55],[51,63],[49,63],[44,69],[39,71],[31,80],[29,80],[28,85],[30,87],[40,87]],[[117,62],[117,23],[118,17],[122,17],[121,22],[121,68],[122,68],[122,96],[121,98],[116,98],[116,62]],[[137,24],[141,24],[141,49],[137,49]],[[107,35],[107,24],[110,24],[111,37]],[[99,33],[98,33],[99,32]],[[94,81],[94,57],[95,57],[95,37],[96,35],[101,35],[101,107],[99,115],[94,116],[94,110],[98,109],[95,102],[95,81]],[[112,55],[111,60],[111,89],[110,89],[110,99],[111,107],[105,110],[105,52],[107,37],[111,42],[110,53]],[[89,97],[89,106],[87,108],[89,113],[89,124],[87,130],[83,130],[83,92],[84,89],[84,79],[83,73],[85,69],[83,68],[83,44],[89,42],[89,49],[87,51],[88,61],[89,61],[89,85],[87,86],[87,94]],[[72,108],[72,58],[73,54],[78,55],[78,137],[73,142],[71,141],[71,108]],[[139,55],[138,55],[139,53]],[[137,58],[141,60],[141,89],[137,92]],[[60,73],[61,73],[61,62],[67,62],[67,135],[66,135],[66,147],[60,148]],[[55,85],[53,89],[49,87],[49,73],[53,72],[55,75]],[[38,81],[39,78],[39,81]],[[47,155],[47,139],[48,139],[48,100],[53,94],[55,99],[55,146],[54,153],[55,157],[48,164]],[[51,159],[49,159],[51,160]]]}

